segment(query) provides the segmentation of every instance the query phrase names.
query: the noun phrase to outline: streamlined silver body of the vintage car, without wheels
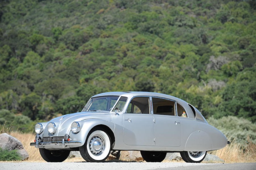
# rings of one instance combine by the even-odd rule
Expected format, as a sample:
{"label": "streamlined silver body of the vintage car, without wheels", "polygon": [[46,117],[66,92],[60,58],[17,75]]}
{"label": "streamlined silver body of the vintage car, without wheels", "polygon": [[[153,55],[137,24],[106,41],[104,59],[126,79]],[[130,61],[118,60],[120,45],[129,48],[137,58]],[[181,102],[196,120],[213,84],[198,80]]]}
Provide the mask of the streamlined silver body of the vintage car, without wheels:
{"label": "streamlined silver body of the vintage car, without wheels", "polygon": [[[104,96],[118,98],[110,111],[83,109],[82,112],[41,123],[43,131],[30,145],[47,150],[75,150],[84,145],[87,135],[94,127],[106,129],[112,138],[112,150],[211,151],[221,149],[228,143],[224,134],[209,125],[194,106],[177,97],[153,92],[107,92],[94,95],[91,99]],[[123,109],[115,110],[121,97],[126,99]],[[127,112],[131,101],[136,103],[137,99],[148,99],[148,105],[145,104],[149,107],[145,108],[146,111],[143,114]],[[173,115],[156,113],[156,107],[159,107],[160,113],[170,108],[162,106],[164,102],[157,103],[161,100],[174,104]],[[186,117],[179,116],[179,109],[183,109]],[[56,125],[55,133],[47,130],[50,122]],[[80,125],[78,133],[71,131],[73,122]],[[65,134],[68,134],[70,141],[64,140]]]}

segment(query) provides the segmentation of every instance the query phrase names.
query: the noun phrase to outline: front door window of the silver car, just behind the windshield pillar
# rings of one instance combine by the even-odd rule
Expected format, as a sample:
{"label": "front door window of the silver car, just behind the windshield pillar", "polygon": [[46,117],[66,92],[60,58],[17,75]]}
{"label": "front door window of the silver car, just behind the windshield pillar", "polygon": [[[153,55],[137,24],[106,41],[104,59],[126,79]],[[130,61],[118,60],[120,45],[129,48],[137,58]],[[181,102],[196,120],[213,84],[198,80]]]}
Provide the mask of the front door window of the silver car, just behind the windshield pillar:
{"label": "front door window of the silver car, just behind the windshield pillar", "polygon": [[149,114],[149,97],[135,97],[125,113]]}

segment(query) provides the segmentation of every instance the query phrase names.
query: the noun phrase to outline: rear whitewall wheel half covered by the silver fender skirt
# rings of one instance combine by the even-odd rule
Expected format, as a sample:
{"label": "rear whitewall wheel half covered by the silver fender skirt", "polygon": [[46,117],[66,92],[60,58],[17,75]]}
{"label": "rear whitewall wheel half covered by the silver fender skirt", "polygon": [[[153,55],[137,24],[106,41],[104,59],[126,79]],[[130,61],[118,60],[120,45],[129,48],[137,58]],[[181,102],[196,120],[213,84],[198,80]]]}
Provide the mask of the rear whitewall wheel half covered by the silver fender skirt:
{"label": "rear whitewall wheel half covered by the silver fender skirt", "polygon": [[207,151],[200,152],[191,152],[191,151],[182,151],[181,158],[188,163],[200,163],[206,156]]}

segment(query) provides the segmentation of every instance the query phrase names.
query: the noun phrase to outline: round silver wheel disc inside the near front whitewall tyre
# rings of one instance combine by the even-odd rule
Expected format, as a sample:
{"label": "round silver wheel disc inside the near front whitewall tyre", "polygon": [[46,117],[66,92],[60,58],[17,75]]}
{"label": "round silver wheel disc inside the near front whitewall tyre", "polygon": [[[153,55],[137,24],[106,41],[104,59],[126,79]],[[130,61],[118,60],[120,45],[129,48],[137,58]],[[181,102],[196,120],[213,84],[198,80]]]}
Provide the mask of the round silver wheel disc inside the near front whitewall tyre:
{"label": "round silver wheel disc inside the near front whitewall tyre", "polygon": [[93,136],[89,143],[89,148],[92,154],[102,154],[105,149],[105,141],[100,136]]}

